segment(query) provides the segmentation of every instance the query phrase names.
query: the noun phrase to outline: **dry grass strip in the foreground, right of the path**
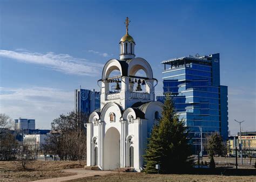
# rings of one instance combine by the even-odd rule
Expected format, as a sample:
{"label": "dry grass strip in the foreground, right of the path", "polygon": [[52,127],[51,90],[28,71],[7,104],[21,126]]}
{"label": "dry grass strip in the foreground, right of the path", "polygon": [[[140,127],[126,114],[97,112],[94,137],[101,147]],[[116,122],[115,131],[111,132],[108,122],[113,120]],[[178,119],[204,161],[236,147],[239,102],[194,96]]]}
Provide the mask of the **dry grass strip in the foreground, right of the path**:
{"label": "dry grass strip in the foreground, right of the path", "polygon": [[256,181],[256,176],[113,173],[107,176],[93,176],[72,181]]}

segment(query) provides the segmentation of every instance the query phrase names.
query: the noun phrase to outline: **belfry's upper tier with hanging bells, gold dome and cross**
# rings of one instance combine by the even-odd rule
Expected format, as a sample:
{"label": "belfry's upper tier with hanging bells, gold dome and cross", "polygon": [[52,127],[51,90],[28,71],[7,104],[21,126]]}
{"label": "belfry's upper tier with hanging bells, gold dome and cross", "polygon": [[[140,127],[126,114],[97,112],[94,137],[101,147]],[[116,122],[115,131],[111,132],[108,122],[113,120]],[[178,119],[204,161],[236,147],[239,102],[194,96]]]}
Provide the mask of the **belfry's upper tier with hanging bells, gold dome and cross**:
{"label": "belfry's upper tier with hanging bells, gold dome and cross", "polygon": [[[128,33],[130,20],[125,20],[126,34],[121,38],[120,60],[111,59],[106,62],[101,81],[100,108],[106,103],[115,102],[122,109],[132,106],[136,102],[154,101],[154,87],[157,79],[153,78],[150,64],[143,58],[135,58],[135,41]],[[119,75],[111,75],[118,71]],[[145,76],[136,74],[143,71]]]}

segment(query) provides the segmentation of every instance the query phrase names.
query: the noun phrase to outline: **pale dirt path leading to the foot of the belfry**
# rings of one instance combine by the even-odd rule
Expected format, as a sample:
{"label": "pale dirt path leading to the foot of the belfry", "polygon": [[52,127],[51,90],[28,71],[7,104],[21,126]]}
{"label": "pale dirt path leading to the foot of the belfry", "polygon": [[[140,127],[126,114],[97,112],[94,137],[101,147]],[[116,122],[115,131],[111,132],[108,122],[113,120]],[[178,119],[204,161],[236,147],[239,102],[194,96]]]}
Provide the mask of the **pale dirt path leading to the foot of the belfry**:
{"label": "pale dirt path leading to the foot of the belfry", "polygon": [[83,168],[65,169],[65,170],[62,170],[62,171],[64,171],[64,172],[73,172],[73,173],[76,173],[76,174],[73,175],[73,176],[51,178],[51,179],[41,179],[41,180],[37,180],[37,181],[40,181],[40,182],[67,181],[67,180],[72,180],[72,179],[91,177],[91,176],[95,176],[95,175],[105,176],[106,174],[114,173],[113,171],[93,171],[93,170],[85,170]]}

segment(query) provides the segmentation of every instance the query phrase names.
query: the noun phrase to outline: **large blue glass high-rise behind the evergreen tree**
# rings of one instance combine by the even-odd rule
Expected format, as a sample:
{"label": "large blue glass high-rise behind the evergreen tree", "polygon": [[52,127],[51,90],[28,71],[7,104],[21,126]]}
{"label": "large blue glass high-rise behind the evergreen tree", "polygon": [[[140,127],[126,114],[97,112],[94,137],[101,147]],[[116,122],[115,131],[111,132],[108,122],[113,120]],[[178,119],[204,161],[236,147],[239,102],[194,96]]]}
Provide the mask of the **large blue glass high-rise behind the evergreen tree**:
{"label": "large blue glass high-rise behind the evergreen tree", "polygon": [[[188,56],[161,62],[164,64],[164,93],[171,93],[180,119],[190,130],[194,151],[200,151],[201,132],[228,137],[227,86],[220,85],[219,53]],[[164,96],[157,96],[164,101]],[[203,141],[204,142],[204,141]]]}

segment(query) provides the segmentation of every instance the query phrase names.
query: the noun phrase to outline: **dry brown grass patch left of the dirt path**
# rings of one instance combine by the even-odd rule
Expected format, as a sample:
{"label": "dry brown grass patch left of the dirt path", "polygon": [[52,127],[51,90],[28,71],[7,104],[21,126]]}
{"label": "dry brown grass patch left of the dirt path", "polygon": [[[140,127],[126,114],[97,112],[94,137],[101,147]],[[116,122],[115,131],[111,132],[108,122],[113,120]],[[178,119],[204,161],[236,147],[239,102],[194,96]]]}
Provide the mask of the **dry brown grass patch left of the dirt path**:
{"label": "dry brown grass patch left of the dirt path", "polygon": [[0,181],[15,180],[28,181],[38,179],[71,176],[75,173],[62,172],[63,169],[83,167],[85,163],[69,161],[44,161],[37,160],[28,165],[28,170],[22,170],[17,162],[0,161]]}

